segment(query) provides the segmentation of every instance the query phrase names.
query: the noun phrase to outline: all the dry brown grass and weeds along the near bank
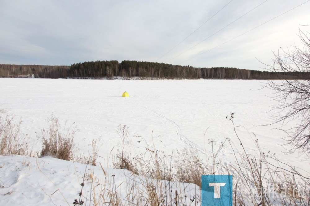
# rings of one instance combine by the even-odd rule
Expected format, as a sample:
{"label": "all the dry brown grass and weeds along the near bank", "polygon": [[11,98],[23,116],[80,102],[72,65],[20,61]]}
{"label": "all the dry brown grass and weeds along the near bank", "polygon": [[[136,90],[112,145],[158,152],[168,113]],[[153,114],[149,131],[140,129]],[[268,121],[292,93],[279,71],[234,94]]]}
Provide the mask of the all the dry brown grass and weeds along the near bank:
{"label": "all the dry brown grass and weeds along the near bank", "polygon": [[[264,153],[259,147],[258,140],[252,138],[256,144],[258,154],[248,154],[243,147],[242,138],[239,138],[233,120],[233,114],[228,118],[233,125],[237,144],[242,146],[238,151],[231,139],[226,141],[233,149],[236,164],[215,163],[217,152],[213,152],[213,158],[203,161],[195,149],[184,148],[175,151],[174,154],[166,155],[159,152],[155,145],[146,148],[144,153],[132,155],[126,151],[128,142],[128,127],[119,126],[118,134],[121,143],[117,153],[112,155],[114,168],[127,169],[132,175],[127,181],[131,182],[126,190],[126,197],[121,198],[122,183],[116,184],[113,175],[107,174],[101,166],[104,178],[99,179],[94,170],[84,174],[84,178],[91,182],[91,194],[83,197],[93,205],[199,205],[201,191],[195,192],[193,197],[187,197],[185,188],[181,183],[193,183],[201,188],[201,175],[233,175],[233,205],[305,205],[310,202],[310,178],[302,176],[291,165],[283,164],[271,152]],[[17,154],[29,155],[26,137],[20,133],[21,121],[15,123],[14,116],[0,112],[0,155]],[[77,160],[74,157],[74,135],[78,131],[73,124],[71,127],[61,127],[59,119],[51,116],[49,129],[42,130],[38,136],[42,140],[41,156],[50,155],[64,160]],[[87,162],[89,167],[96,165],[98,145],[96,140],[92,141],[91,154],[80,158],[79,162]],[[212,144],[212,149],[213,149]],[[216,151],[216,149],[215,149]],[[111,154],[110,154],[111,155]],[[271,158],[277,164],[268,161]],[[213,162],[213,164],[208,164]],[[285,166],[285,167],[284,167]],[[126,180],[124,180],[126,181]],[[84,182],[84,180],[83,180]],[[176,186],[176,184],[179,184]],[[128,184],[127,184],[128,185]],[[81,185],[82,186],[82,185]],[[270,189],[269,187],[274,188]],[[174,188],[174,189],[173,189]],[[81,188],[81,193],[83,186]],[[78,200],[78,199],[77,199]],[[81,200],[75,201],[81,203]]]}

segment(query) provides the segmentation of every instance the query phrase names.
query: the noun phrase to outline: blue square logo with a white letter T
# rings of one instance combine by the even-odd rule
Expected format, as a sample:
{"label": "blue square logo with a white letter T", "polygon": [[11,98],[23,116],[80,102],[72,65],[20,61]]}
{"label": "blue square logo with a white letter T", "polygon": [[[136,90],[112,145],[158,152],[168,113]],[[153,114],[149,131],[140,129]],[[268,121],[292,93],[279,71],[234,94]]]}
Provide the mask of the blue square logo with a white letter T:
{"label": "blue square logo with a white letter T", "polygon": [[232,206],[232,175],[201,175],[201,206]]}

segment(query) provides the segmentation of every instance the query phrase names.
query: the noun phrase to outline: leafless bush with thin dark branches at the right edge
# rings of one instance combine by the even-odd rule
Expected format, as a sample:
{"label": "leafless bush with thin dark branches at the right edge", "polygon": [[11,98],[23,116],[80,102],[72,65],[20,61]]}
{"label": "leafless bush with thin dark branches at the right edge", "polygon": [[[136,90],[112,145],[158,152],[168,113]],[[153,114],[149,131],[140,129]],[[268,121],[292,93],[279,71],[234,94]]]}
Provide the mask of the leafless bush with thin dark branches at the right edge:
{"label": "leafless bush with thin dark branches at the right edge", "polygon": [[292,151],[310,152],[310,33],[299,29],[299,38],[302,48],[294,45],[281,49],[281,53],[273,53],[273,65],[264,64],[283,79],[268,80],[266,87],[275,91],[274,98],[279,103],[273,108],[277,111],[273,115],[274,123],[296,121],[296,127],[287,131]]}

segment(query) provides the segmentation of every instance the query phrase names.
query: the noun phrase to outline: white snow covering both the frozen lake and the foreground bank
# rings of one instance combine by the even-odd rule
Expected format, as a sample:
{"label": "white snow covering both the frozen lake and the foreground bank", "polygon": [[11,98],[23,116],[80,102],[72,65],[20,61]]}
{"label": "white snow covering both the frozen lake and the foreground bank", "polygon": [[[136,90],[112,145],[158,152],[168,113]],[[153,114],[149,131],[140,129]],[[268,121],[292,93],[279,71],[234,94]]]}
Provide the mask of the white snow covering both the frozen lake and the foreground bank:
{"label": "white snow covering both the frozen lake and the foreground bank", "polygon": [[[258,80],[0,78],[0,109],[15,114],[16,121],[22,119],[22,135],[27,134],[33,151],[40,153],[42,142],[38,135],[43,128],[48,129],[47,119],[51,115],[59,118],[62,127],[75,122],[79,130],[74,138],[76,149],[73,152],[76,155],[90,154],[93,139],[98,146],[97,166],[88,166],[87,171],[85,165],[51,157],[1,156],[0,191],[3,198],[0,204],[70,205],[70,201],[72,203],[78,198],[84,170],[85,201],[89,201],[90,194],[95,198],[105,191],[107,193],[102,194],[102,201],[106,202],[105,198],[109,197],[111,190],[120,194],[118,198],[121,201],[139,201],[128,199],[126,194],[131,194],[135,186],[138,195],[147,197],[148,194],[144,194],[145,188],[148,188],[145,182],[149,181],[153,181],[157,189],[162,185],[165,189],[165,181],[136,176],[128,170],[110,169],[113,167],[111,156],[117,153],[121,142],[117,134],[118,125],[128,126],[125,150],[132,156],[139,156],[147,148],[172,156],[175,154],[173,152],[192,148],[197,149],[202,161],[210,162],[210,141],[213,141],[216,151],[226,140],[216,157],[220,165],[217,170],[220,171],[223,165],[236,165],[235,153],[240,152],[242,156],[243,151],[232,122],[226,118],[230,117],[231,112],[234,113],[236,132],[247,154],[258,155],[257,140],[262,152],[275,153],[280,161],[293,165],[308,176],[308,156],[297,152],[286,154],[289,147],[283,146],[286,142],[282,138],[286,134],[282,129],[294,127],[298,122],[270,125],[270,109],[277,102],[270,98],[274,96],[273,91],[263,88],[264,83],[266,81]],[[122,97],[125,91],[129,93],[129,98]],[[234,171],[230,172],[235,175]],[[272,173],[270,171],[268,174]],[[93,187],[93,184],[100,187]],[[195,184],[174,182],[169,183],[167,188],[176,193],[179,191],[179,200],[186,205],[191,205],[191,197],[199,199],[201,194]],[[162,194],[165,192],[162,191]],[[173,195],[168,196],[173,200]],[[248,200],[245,198],[245,201]]]}

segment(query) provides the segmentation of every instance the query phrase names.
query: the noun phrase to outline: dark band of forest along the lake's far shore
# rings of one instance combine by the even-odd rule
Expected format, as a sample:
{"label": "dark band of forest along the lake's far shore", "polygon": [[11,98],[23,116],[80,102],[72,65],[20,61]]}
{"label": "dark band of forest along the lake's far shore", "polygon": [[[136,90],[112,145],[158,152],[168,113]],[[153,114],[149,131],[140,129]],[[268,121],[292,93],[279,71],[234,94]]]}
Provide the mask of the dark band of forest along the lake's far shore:
{"label": "dark band of forest along the lake's far shore", "polygon": [[[114,79],[304,79],[308,72],[284,73],[229,67],[197,68],[157,62],[96,61],[71,66],[0,64],[0,77]],[[297,77],[296,77],[297,76]]]}

